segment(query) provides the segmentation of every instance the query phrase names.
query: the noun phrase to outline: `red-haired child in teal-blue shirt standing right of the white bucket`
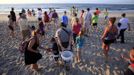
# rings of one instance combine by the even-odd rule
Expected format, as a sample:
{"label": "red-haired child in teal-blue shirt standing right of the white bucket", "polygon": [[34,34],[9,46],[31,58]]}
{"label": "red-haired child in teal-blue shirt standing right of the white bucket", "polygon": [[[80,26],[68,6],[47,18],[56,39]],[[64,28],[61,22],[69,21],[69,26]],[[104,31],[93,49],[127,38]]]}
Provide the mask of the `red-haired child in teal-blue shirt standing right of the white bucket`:
{"label": "red-haired child in teal-blue shirt standing right of the white bucket", "polygon": [[81,30],[76,37],[76,46],[77,46],[77,54],[76,54],[76,61],[79,63],[81,61],[81,50],[84,44],[84,31]]}

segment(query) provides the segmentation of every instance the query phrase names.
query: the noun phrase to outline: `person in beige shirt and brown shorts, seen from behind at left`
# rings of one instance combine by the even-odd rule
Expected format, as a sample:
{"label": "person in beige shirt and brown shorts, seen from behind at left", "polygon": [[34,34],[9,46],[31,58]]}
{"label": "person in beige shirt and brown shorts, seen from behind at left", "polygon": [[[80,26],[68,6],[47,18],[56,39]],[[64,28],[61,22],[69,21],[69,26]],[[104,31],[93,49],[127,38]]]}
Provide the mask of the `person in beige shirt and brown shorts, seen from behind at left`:
{"label": "person in beige shirt and brown shorts, seen from behind at left", "polygon": [[26,40],[27,38],[30,38],[30,30],[28,26],[28,20],[26,18],[25,13],[19,13],[19,27],[22,35],[22,40]]}

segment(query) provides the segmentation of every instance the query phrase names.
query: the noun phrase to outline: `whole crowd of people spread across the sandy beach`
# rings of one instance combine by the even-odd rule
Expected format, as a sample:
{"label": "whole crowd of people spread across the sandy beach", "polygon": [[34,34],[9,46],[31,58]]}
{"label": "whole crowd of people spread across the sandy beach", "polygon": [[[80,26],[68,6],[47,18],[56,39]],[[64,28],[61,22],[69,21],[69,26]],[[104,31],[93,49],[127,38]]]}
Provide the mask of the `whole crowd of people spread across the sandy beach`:
{"label": "whole crowd of people spread across the sandy beach", "polygon": [[[19,13],[19,18],[16,20],[16,14],[14,8],[11,9],[10,15],[8,16],[8,27],[11,31],[10,35],[15,37],[15,27],[18,21],[20,27],[20,32],[22,35],[22,41],[29,39],[29,44],[25,50],[25,64],[31,65],[32,69],[37,70],[39,67],[37,61],[42,58],[42,55],[38,51],[40,45],[40,37],[46,36],[47,30],[51,30],[51,27],[55,28],[54,36],[51,39],[52,51],[55,55],[55,61],[58,62],[59,54],[62,51],[76,49],[75,60],[77,63],[81,62],[81,51],[84,46],[85,37],[89,37],[89,30],[93,29],[98,31],[99,25],[99,14],[102,13],[98,8],[96,8],[93,14],[90,12],[90,8],[81,10],[80,17],[78,16],[78,10],[73,6],[71,9],[71,22],[69,24],[69,15],[67,11],[64,11],[64,14],[61,18],[56,12],[55,9],[49,9],[48,11],[42,11],[41,8],[38,8],[37,14],[34,10],[27,11],[28,16],[37,16],[38,28],[35,26],[30,27],[28,25],[28,19],[25,12],[25,9]],[[106,59],[108,58],[108,52],[110,50],[110,45],[121,38],[121,43],[125,43],[124,32],[126,29],[130,30],[129,19],[126,18],[126,14],[123,13],[122,18],[119,20],[118,25],[115,24],[116,17],[109,17],[108,9],[105,9],[104,19],[108,21],[104,32],[102,34],[102,49]],[[61,23],[59,23],[61,22]],[[45,37],[43,37],[45,39]],[[133,51],[131,51],[133,53]],[[130,52],[130,53],[131,53]],[[134,58],[133,55],[130,56]],[[131,65],[134,65],[134,61],[131,60]],[[134,69],[134,67],[132,67]]]}

